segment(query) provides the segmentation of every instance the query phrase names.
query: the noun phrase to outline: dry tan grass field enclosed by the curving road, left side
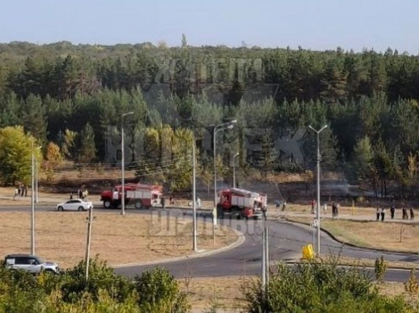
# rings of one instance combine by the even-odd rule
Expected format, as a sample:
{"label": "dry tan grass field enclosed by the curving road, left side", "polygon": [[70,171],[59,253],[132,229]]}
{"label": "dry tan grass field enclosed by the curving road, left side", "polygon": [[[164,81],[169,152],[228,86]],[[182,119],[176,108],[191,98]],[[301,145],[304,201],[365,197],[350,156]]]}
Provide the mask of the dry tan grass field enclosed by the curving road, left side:
{"label": "dry tan grass field enclosed by the curving road, left side", "polygon": [[[84,258],[87,212],[36,213],[36,254],[56,261],[66,268]],[[95,212],[92,230],[92,256],[99,255],[109,264],[127,264],[192,254],[192,223],[190,219],[167,217],[164,213],[130,214]],[[9,253],[29,253],[31,244],[31,213],[1,212],[0,256]],[[200,249],[214,249],[237,240],[227,227],[216,231],[212,244],[212,226],[198,224]]]}

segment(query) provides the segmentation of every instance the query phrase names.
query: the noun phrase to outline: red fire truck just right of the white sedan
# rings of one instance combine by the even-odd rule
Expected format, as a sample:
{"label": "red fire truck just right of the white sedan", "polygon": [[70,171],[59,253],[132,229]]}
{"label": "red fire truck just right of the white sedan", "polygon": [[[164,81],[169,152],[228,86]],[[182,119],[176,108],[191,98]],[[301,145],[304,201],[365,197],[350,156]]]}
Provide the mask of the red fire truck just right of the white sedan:
{"label": "red fire truck just right of the white sedan", "polygon": [[[105,209],[118,208],[121,204],[122,185],[101,193],[101,201]],[[159,185],[125,184],[125,204],[134,205],[136,209],[150,208],[161,205],[163,187]]]}

